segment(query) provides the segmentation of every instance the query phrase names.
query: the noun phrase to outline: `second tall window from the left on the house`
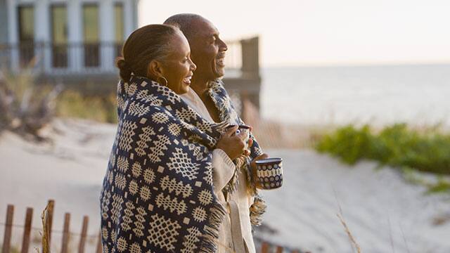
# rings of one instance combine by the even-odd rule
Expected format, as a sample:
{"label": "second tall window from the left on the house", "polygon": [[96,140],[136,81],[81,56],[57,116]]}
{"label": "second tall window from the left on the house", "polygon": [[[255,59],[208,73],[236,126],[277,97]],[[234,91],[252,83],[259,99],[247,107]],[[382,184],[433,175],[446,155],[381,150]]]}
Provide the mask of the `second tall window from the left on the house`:
{"label": "second tall window from the left on the house", "polygon": [[68,66],[68,11],[65,6],[51,6],[51,48],[53,67]]}

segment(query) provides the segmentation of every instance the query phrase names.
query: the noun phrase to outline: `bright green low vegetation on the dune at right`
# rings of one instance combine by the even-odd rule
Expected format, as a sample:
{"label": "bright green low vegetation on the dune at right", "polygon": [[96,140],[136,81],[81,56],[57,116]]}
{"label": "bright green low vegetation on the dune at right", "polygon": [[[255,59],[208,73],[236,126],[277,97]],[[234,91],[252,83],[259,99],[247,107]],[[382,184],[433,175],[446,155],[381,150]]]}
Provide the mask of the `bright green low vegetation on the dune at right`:
{"label": "bright green low vegetation on the dune at right", "polygon": [[[418,130],[394,124],[373,131],[368,125],[349,125],[323,136],[315,148],[347,164],[376,160],[380,166],[450,175],[450,134],[443,134],[437,127]],[[450,190],[450,183],[439,179],[428,188],[430,192],[442,192]]]}

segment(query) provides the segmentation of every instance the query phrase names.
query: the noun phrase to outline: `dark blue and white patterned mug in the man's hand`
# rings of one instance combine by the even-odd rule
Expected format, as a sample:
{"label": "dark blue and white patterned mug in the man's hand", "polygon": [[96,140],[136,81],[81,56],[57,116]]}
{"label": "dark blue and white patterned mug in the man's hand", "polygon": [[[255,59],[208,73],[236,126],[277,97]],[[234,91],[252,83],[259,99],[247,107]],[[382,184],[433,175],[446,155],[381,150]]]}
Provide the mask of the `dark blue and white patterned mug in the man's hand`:
{"label": "dark blue and white patterned mug in the man's hand", "polygon": [[266,158],[257,160],[256,180],[262,189],[280,188],[283,185],[283,159]]}

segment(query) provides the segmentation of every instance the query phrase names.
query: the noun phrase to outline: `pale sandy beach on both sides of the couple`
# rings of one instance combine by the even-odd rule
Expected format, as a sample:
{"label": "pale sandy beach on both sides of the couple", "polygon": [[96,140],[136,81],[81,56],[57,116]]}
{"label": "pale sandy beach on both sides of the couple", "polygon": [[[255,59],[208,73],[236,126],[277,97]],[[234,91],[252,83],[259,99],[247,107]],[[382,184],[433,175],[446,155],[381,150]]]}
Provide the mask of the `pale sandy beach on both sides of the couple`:
{"label": "pale sandy beach on both sides of the couple", "polygon": [[[23,225],[26,207],[34,207],[33,226],[46,201],[56,201],[53,229],[62,230],[65,212],[71,231],[79,233],[89,216],[88,246],[99,230],[98,196],[116,126],[79,119],[57,119],[47,134],[53,143],[24,141],[5,132],[0,137],[0,221],[6,205],[15,205],[14,223]],[[311,252],[356,252],[337,214],[347,223],[362,252],[450,252],[449,195],[426,195],[394,169],[375,169],[372,162],[354,167],[314,150],[266,150],[283,157],[285,182],[263,193],[268,209],[255,236]],[[14,228],[13,245],[20,245]],[[4,226],[0,226],[3,238]],[[34,244],[39,237],[34,231]],[[60,235],[52,239],[60,249]],[[72,239],[72,246],[78,238]],[[31,252],[32,249],[30,249]],[[88,249],[88,252],[91,252]]]}

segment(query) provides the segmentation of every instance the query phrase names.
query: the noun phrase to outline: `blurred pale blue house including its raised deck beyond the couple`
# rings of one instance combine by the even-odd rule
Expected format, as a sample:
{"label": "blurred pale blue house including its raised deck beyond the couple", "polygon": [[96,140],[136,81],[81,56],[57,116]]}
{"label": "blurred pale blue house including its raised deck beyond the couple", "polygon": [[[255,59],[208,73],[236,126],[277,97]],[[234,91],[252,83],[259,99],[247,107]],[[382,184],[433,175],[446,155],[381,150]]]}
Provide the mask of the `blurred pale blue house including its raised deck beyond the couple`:
{"label": "blurred pale blue house including its raised deck beyond the couple", "polygon": [[[114,65],[138,27],[139,0],[0,0],[0,67],[39,82],[115,90]],[[259,107],[258,37],[229,41],[226,88]],[[228,74],[229,73],[229,74]]]}

